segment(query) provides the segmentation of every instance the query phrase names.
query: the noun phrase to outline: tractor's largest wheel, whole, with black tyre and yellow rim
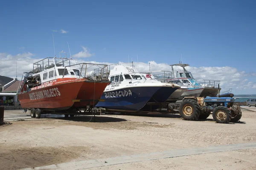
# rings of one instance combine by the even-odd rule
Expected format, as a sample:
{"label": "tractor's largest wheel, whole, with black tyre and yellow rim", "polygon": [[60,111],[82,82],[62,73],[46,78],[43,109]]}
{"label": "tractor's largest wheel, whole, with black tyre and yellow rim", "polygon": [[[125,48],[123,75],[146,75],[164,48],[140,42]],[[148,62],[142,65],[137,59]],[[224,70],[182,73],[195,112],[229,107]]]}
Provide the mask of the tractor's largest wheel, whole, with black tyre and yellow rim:
{"label": "tractor's largest wheel, whole, with black tyre and yellow rim", "polygon": [[200,107],[197,101],[187,99],[180,104],[180,116],[186,121],[195,121],[200,115]]}

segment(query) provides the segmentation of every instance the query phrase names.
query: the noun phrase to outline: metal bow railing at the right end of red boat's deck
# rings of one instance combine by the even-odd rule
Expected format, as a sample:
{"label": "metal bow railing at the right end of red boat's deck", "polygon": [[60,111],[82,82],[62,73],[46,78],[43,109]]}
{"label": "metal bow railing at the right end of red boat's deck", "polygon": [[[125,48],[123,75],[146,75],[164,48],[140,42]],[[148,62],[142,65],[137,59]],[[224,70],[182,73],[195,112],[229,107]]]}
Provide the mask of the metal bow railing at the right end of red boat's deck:
{"label": "metal bow railing at the right end of red boat's deck", "polygon": [[108,79],[108,65],[97,63],[78,63],[70,66],[65,66],[62,74],[62,78],[69,71],[75,71],[75,75],[79,78],[87,78],[89,80],[106,80]]}

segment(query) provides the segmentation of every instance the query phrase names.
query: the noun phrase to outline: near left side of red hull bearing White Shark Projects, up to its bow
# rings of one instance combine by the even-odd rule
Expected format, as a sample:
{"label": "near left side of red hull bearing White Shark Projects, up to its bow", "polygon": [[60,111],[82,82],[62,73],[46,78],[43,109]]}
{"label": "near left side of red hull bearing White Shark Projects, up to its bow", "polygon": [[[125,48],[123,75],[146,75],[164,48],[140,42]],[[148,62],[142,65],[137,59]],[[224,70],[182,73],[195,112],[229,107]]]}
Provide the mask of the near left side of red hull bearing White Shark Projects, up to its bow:
{"label": "near left side of red hull bearing White Shark Projects, up to its bow", "polygon": [[76,99],[83,83],[76,81],[35,89],[19,94],[18,99],[23,108],[66,110],[73,106],[72,99]]}

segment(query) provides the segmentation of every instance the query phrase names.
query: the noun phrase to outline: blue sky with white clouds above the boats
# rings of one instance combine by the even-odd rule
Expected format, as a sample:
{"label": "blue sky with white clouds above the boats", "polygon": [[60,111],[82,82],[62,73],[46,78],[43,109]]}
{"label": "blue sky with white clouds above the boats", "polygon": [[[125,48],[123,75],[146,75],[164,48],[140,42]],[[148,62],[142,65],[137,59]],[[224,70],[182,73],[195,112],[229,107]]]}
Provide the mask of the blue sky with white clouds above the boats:
{"label": "blue sky with white clouds above the boats", "polygon": [[[198,79],[256,94],[254,0],[44,0],[0,4],[0,75],[18,77],[64,50],[84,62],[189,63]],[[128,57],[129,56],[129,57]],[[137,58],[138,56],[138,58]],[[182,56],[182,59],[181,59]],[[129,58],[129,60],[128,60]]]}

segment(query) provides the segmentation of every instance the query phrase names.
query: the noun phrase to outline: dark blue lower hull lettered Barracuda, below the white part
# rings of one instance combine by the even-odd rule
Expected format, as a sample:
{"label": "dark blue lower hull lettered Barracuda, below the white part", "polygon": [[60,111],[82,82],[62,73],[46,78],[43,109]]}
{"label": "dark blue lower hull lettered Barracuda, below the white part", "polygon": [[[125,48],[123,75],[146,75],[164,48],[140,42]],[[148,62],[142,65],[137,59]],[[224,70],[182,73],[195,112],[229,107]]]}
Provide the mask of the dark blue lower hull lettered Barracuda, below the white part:
{"label": "dark blue lower hull lettered Barracuda, below the white part", "polygon": [[[96,107],[115,110],[147,110],[148,102],[163,102],[177,88],[166,86],[136,86],[103,92]],[[116,97],[117,96],[117,97]]]}

